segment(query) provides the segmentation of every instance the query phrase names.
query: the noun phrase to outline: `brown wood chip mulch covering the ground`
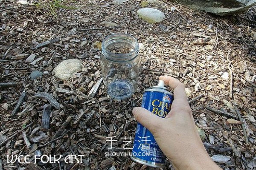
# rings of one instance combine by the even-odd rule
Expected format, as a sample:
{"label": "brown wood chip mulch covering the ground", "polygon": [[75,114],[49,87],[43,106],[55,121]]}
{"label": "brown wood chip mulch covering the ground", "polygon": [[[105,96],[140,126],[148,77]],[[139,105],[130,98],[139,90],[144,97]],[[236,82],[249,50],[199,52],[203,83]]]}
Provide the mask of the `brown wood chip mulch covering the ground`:
{"label": "brown wood chip mulch covering the ground", "polygon": [[[199,96],[190,105],[209,155],[230,156],[217,162],[220,167],[256,169],[255,6],[217,17],[159,0],[147,7],[163,11],[166,19],[148,24],[136,14],[140,0],[28,3],[0,0],[0,170],[154,169],[105,153],[127,152],[123,138],[134,137],[137,126],[131,111],[160,75],[184,82],[189,100]],[[101,81],[96,44],[115,33],[137,38],[142,56],[137,91],[125,101],[110,99],[103,83],[96,84]],[[26,62],[31,54],[35,58]],[[84,68],[62,81],[52,70],[65,59],[80,59]],[[44,75],[32,80],[34,70]],[[111,136],[117,145],[109,150]],[[38,154],[62,158],[35,164]],[[65,163],[72,154],[84,155],[82,163]],[[7,163],[7,155],[29,155],[31,163]],[[168,166],[173,169],[166,161]]]}

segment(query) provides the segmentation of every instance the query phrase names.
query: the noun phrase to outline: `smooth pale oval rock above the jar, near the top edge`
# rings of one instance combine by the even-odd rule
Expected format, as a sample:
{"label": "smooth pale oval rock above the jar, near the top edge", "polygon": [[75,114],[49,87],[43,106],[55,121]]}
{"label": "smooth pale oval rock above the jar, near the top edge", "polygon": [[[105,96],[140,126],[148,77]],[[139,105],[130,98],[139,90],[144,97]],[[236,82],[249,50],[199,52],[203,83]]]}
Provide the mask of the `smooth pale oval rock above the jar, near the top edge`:
{"label": "smooth pale oval rock above the jar, near the top edge", "polygon": [[154,8],[141,8],[137,11],[138,16],[148,23],[160,23],[165,19],[163,12]]}

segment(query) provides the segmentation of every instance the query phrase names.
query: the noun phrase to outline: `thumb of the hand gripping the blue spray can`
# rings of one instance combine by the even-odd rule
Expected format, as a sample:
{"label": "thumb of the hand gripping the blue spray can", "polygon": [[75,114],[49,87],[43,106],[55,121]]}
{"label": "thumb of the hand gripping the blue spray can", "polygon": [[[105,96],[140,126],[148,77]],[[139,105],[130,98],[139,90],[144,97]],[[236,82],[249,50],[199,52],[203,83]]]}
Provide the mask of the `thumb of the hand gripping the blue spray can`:
{"label": "thumb of the hand gripping the blue spray can", "polygon": [[135,119],[146,127],[151,133],[155,133],[163,125],[164,119],[154,115],[145,108],[135,107],[132,110]]}

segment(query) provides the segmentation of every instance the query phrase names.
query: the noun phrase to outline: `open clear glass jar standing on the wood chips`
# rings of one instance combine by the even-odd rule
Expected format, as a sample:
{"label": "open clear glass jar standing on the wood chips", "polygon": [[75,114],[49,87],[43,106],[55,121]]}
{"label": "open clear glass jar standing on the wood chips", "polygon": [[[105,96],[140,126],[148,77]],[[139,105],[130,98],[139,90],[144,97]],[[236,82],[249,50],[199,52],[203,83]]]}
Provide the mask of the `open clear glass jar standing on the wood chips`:
{"label": "open clear glass jar standing on the wood chips", "polygon": [[137,88],[140,70],[139,44],[127,34],[113,34],[102,42],[102,77],[107,94],[127,99]]}

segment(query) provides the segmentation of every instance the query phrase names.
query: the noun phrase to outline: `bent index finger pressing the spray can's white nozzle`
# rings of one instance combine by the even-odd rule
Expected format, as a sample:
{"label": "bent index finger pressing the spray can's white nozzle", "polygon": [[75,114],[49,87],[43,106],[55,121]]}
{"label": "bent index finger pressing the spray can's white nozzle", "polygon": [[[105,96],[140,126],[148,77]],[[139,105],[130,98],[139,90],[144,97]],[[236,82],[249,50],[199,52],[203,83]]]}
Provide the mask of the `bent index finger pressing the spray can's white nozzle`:
{"label": "bent index finger pressing the spray can's white nozzle", "polygon": [[170,76],[160,76],[159,79],[163,80],[166,85],[173,89],[174,99],[182,99],[183,102],[187,102],[185,86],[182,82]]}

